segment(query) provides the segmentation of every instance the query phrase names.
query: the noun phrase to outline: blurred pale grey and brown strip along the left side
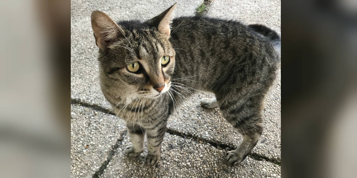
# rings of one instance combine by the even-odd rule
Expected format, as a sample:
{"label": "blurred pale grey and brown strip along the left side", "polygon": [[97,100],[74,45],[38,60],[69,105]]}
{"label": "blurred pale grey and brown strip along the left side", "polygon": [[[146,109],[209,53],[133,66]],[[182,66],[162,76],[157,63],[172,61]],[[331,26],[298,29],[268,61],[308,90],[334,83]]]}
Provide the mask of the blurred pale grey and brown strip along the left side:
{"label": "blurred pale grey and brown strip along the left side", "polygon": [[0,177],[70,177],[70,1],[0,9]]}

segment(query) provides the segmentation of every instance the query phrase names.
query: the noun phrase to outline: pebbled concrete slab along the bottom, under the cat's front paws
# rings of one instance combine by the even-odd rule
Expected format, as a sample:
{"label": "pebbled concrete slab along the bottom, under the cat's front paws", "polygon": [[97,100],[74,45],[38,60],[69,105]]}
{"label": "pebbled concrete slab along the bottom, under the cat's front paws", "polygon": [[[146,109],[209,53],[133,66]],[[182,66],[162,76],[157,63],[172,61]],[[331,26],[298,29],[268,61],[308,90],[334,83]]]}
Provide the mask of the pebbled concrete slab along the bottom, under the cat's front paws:
{"label": "pebbled concrete slab along the bottom, under the cat's front paws", "polygon": [[166,134],[162,147],[162,161],[156,166],[144,163],[147,150],[141,156],[125,156],[125,147],[130,145],[126,138],[117,149],[112,161],[103,172],[103,177],[280,177],[281,167],[266,161],[247,157],[239,166],[227,166],[224,150],[195,143],[175,135]]}

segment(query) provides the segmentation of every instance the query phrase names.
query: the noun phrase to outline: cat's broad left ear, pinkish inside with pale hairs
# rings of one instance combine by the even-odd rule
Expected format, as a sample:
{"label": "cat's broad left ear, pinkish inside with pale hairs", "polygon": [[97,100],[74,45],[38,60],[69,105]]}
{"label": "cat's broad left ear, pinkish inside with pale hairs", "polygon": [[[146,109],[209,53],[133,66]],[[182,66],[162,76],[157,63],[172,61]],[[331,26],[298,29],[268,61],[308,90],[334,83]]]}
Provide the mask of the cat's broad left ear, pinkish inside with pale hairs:
{"label": "cat's broad left ear, pinkish inside with pale hairs", "polygon": [[106,50],[110,43],[124,37],[124,30],[104,12],[93,11],[91,21],[95,43],[103,51]]}

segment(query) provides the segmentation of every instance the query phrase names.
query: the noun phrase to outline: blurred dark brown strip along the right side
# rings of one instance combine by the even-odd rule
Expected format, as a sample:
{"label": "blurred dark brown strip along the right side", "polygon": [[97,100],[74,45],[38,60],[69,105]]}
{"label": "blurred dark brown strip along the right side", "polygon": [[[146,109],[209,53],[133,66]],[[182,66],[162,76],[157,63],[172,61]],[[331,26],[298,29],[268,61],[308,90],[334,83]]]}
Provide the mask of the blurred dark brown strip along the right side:
{"label": "blurred dark brown strip along the right side", "polygon": [[284,1],[282,175],[356,177],[357,1]]}

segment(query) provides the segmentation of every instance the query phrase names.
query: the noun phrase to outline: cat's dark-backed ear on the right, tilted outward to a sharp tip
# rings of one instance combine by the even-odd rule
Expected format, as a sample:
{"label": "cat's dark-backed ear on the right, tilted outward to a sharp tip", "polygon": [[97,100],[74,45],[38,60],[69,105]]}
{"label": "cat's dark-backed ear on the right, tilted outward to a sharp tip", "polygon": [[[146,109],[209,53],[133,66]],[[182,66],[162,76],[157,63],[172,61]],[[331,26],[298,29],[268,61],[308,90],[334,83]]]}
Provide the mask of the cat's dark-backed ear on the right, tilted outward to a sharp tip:
{"label": "cat's dark-backed ear on the right, tilted outward to a sharp tip", "polygon": [[171,21],[171,14],[176,7],[177,2],[172,5],[169,9],[166,9],[160,15],[146,21],[152,26],[157,27],[160,33],[163,33],[167,36],[170,36],[170,21]]}

